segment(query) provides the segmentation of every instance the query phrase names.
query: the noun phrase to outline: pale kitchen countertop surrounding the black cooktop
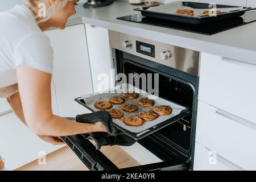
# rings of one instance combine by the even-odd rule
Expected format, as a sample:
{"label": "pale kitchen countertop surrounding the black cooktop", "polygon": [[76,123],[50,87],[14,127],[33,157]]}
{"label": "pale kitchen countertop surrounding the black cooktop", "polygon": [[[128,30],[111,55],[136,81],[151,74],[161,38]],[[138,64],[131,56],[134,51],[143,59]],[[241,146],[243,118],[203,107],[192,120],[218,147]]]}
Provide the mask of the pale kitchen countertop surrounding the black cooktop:
{"label": "pale kitchen countertop surrounding the black cooktop", "polygon": [[256,22],[209,36],[116,19],[119,16],[137,14],[137,11],[133,11],[136,7],[138,5],[130,5],[127,1],[121,0],[96,9],[84,9],[82,4],[79,4],[77,14],[69,19],[68,25],[92,24],[256,65]]}

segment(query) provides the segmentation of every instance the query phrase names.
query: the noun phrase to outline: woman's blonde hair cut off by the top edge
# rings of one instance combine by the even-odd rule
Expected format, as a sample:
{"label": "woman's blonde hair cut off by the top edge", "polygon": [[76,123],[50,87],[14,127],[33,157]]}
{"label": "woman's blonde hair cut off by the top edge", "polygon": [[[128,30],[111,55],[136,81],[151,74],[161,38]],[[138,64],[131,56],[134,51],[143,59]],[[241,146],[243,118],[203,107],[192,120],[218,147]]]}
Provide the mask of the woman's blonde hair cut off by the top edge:
{"label": "woman's blonde hair cut off by the top edge", "polygon": [[[38,5],[40,3],[44,3],[45,5],[47,5],[47,2],[49,0],[23,0],[23,4],[25,6],[27,6],[28,8],[30,8],[31,10],[35,10],[35,9],[38,9]],[[65,7],[67,5],[67,3],[69,1],[73,1],[73,0],[60,0],[60,1],[55,1],[55,3],[53,3],[52,6],[49,6],[49,7],[46,7],[46,16],[44,17],[40,17],[38,15],[38,13],[34,12],[35,13],[35,18],[40,18],[39,22],[45,22],[47,21],[48,19],[51,18],[52,14],[56,11],[56,10],[59,10],[59,9],[62,9],[63,7]]]}

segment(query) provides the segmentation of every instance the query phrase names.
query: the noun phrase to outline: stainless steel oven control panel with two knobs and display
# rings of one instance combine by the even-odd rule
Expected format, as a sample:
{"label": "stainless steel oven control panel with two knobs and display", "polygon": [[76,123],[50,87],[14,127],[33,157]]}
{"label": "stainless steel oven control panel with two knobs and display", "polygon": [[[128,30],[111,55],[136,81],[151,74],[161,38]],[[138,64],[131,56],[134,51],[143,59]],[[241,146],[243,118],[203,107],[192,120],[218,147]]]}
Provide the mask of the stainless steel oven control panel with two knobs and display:
{"label": "stainless steel oven control panel with two knobs and display", "polygon": [[110,47],[198,76],[199,52],[109,31]]}

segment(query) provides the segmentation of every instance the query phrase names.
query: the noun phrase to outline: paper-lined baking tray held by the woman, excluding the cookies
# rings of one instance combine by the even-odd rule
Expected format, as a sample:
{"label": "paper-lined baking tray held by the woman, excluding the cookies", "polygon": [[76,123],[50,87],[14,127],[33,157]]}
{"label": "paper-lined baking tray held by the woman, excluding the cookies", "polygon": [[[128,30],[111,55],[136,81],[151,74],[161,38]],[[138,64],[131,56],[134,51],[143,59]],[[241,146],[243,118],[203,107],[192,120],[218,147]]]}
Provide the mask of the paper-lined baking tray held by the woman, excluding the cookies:
{"label": "paper-lined baking tray held by the woman, excluding the cookies", "polygon": [[[91,111],[98,111],[99,109],[96,109],[94,107],[94,103],[97,101],[109,101],[110,97],[113,96],[123,96],[123,93],[134,91],[139,93],[139,97],[134,100],[125,100],[124,104],[136,104],[137,101],[140,98],[148,97],[151,99],[154,99],[154,96],[151,94],[148,94],[140,89],[135,88],[134,86],[131,86],[129,84],[125,85],[119,85],[115,89],[115,93],[112,92],[110,93],[109,90],[108,92],[104,93],[96,93],[96,94],[90,94],[90,95],[85,95],[80,98],[76,98],[75,101],[77,101],[79,104],[85,106]],[[170,102],[167,100],[164,100],[163,98],[156,98],[154,100],[155,104],[154,106],[157,105],[169,105],[172,107],[172,113],[170,115],[165,115],[165,116],[160,116],[159,118],[155,119],[154,121],[150,122],[144,122],[142,126],[134,127],[134,126],[127,126],[125,123],[122,122],[122,119],[125,118],[126,116],[129,115],[138,115],[140,111],[146,111],[146,110],[152,110],[154,106],[152,107],[141,107],[138,106],[138,111],[135,111],[133,113],[129,113],[126,111],[123,111],[124,116],[120,119],[113,119],[114,126],[117,127],[119,130],[123,131],[123,133],[129,135],[130,137],[134,138],[135,140],[142,139],[146,137],[147,135],[150,135],[154,133],[155,131],[158,131],[162,129],[163,127],[166,127],[170,125],[171,123],[176,122],[177,120],[187,117],[189,114],[191,114],[191,111],[184,106],[175,104],[174,102]],[[113,109],[120,109],[121,110],[121,105],[114,105],[113,104]]]}

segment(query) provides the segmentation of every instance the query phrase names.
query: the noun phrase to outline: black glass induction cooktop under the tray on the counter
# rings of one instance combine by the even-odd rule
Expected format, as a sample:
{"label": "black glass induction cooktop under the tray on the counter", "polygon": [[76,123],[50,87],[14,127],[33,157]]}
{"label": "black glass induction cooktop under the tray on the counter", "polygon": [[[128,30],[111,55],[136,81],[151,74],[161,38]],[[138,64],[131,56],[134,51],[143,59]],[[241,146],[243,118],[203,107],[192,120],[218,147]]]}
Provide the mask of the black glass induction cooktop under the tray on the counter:
{"label": "black glass induction cooktop under the tray on the counter", "polygon": [[218,20],[217,22],[205,23],[205,24],[186,24],[180,22],[172,22],[170,20],[150,18],[143,16],[142,14],[134,14],[129,16],[118,17],[117,19],[126,20],[129,22],[149,24],[152,26],[171,28],[175,30],[195,32],[197,34],[213,35],[222,31],[229,30],[231,28],[243,26],[248,23],[256,22],[256,11],[247,11],[243,16],[236,18],[229,18],[224,20]]}

